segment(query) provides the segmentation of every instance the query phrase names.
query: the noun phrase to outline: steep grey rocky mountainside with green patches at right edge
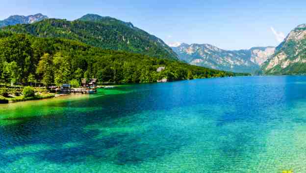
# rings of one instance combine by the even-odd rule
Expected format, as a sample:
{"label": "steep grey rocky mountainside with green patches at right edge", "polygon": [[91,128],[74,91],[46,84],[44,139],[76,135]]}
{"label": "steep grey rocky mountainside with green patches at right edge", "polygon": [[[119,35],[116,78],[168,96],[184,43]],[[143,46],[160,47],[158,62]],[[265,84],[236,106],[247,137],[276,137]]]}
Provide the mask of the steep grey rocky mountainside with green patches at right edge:
{"label": "steep grey rocky mountainside with green patches at right edge", "polygon": [[293,29],[262,66],[266,75],[306,74],[306,24]]}

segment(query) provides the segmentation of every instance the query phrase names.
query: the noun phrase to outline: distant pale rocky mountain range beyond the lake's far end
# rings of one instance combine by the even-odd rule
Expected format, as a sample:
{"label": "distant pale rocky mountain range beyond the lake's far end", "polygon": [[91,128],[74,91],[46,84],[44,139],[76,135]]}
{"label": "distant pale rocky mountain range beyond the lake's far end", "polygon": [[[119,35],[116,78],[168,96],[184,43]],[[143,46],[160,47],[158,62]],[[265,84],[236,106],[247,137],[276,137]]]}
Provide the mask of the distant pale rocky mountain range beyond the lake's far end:
{"label": "distant pale rocky mountain range beyond the lake's far end", "polygon": [[249,50],[227,51],[210,44],[180,44],[172,47],[180,60],[208,68],[255,74],[274,54],[274,47],[254,47]]}

